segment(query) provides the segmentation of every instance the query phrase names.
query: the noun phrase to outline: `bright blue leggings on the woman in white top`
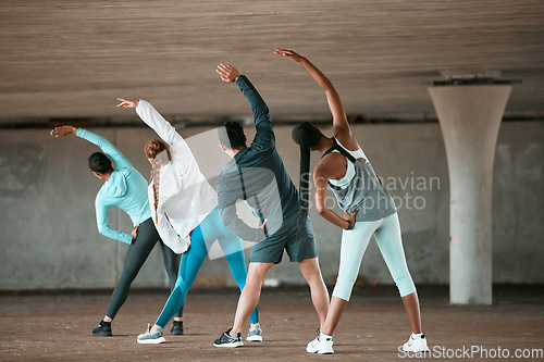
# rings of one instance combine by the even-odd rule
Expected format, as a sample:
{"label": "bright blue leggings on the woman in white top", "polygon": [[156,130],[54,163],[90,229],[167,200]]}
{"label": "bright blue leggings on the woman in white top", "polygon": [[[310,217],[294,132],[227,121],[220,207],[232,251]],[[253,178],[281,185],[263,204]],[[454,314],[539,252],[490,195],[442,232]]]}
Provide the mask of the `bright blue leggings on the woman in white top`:
{"label": "bright blue leggings on the woman in white top", "polygon": [[[175,287],[154,324],[164,328],[175,313],[183,308],[185,298],[187,298],[187,292],[195,282],[198,270],[202,265],[206,255],[208,255],[208,250],[215,240],[219,240],[219,245],[223,250],[231,273],[234,279],[236,279],[240,291],[244,289],[246,286],[247,265],[242,240],[223,226],[219,220],[218,208],[215,208],[206,216],[200,225],[193,230],[190,236],[190,248],[182,254]],[[259,322],[257,307],[251,315],[249,315],[249,321],[251,323]]]}

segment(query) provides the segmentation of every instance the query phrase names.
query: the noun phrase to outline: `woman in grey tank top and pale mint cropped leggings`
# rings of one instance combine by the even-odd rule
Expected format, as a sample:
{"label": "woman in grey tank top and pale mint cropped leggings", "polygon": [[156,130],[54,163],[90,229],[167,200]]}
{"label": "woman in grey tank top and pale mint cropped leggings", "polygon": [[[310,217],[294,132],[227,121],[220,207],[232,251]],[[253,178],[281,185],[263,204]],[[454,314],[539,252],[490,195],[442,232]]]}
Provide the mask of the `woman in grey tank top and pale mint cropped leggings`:
{"label": "woman in grey tank top and pale mint cropped leggings", "polygon": [[[322,159],[313,170],[316,209],[321,216],[343,229],[338,278],[326,321],[318,337],[308,344],[307,351],[334,353],[334,330],[348,303],[362,255],[372,235],[376,238],[410,321],[412,334],[401,349],[410,352],[428,351],[426,339],[421,330],[419,299],[406,265],[395,204],[351,135],[338,93],[326,76],[308,59],[292,50],[276,50],[275,53],[305,66],[325,91],[333,115],[332,138],[325,137],[308,122],[293,129],[293,139],[300,145],[300,197],[308,200],[310,151],[319,151]],[[327,186],[344,210],[343,217],[326,207]]]}

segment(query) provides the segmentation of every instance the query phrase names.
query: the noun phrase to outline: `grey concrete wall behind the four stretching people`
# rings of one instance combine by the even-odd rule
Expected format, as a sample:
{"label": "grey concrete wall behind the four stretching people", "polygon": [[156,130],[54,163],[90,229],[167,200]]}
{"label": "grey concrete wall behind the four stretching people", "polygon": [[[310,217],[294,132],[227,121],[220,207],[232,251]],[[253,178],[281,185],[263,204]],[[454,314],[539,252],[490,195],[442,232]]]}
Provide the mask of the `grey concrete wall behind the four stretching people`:
{"label": "grey concrete wall behind the four stretching people", "polygon": [[[154,137],[151,130],[91,130],[112,140],[148,177],[143,145]],[[189,128],[181,133],[214,185],[227,158],[217,146],[215,130],[205,130]],[[449,186],[438,124],[357,125],[354,132],[396,198],[413,279],[447,284]],[[277,126],[276,138],[287,171],[298,185],[298,148],[290,140],[290,127]],[[493,190],[495,283],[544,283],[543,140],[542,122],[502,125]],[[82,139],[55,139],[46,129],[0,130],[0,289],[114,286],[127,246],[97,232],[94,202],[101,182],[86,165],[94,151],[96,148]],[[316,163],[318,154],[312,158]],[[131,229],[123,212],[115,210],[110,217],[119,229]],[[311,219],[323,275],[325,282],[332,283],[337,273],[342,232],[313,211]],[[360,274],[367,282],[392,284],[375,242],[364,255]],[[224,259],[205,262],[199,276],[213,275],[223,275],[227,285],[235,285]],[[298,267],[286,258],[270,277],[304,284]],[[165,279],[162,255],[156,248],[134,286],[162,287]]]}

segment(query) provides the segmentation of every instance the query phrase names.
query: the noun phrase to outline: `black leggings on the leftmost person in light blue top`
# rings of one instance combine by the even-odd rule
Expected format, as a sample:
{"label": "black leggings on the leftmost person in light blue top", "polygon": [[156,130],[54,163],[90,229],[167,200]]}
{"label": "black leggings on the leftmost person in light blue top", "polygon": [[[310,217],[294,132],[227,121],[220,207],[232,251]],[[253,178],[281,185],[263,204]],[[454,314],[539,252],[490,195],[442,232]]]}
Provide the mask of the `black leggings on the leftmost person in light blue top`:
{"label": "black leggings on the leftmost person in light blue top", "polygon": [[[151,250],[153,250],[157,241],[160,242],[162,249],[162,255],[164,259],[164,267],[166,269],[166,274],[170,279],[170,289],[173,290],[175,287],[175,282],[177,278],[177,265],[180,263],[180,258],[176,255],[169,247],[166,247],[157,233],[154,228],[153,221],[151,217],[139,224],[138,235],[136,239],[134,239],[133,244],[128,247],[128,251],[126,252],[125,264],[123,266],[123,274],[119,278],[118,285],[113,290],[110,300],[110,307],[108,307],[108,312],[106,315],[111,317],[112,320],[118,314],[121,305],[126,301],[128,297],[128,289],[131,288],[131,284],[133,283],[136,275],[144,265],[147,257]],[[183,309],[181,309],[176,316],[183,315]]]}

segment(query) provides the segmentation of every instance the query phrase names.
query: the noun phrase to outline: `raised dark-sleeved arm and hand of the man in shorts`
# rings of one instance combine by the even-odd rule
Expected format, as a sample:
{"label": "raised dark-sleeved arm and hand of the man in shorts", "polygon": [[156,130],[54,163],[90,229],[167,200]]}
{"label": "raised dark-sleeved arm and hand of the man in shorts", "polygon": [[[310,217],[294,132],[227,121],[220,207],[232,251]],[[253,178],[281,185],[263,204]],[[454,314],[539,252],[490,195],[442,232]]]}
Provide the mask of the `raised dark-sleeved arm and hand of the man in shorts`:
{"label": "raised dark-sleeved arm and hand of the man in shorts", "polygon": [[272,120],[270,118],[269,108],[257,89],[255,89],[251,82],[249,82],[245,75],[242,75],[238,70],[230,64],[219,64],[217,72],[223,82],[235,82],[239,90],[244,93],[244,97],[246,97],[249,107],[251,107],[255,127],[257,128],[257,135],[255,136],[252,145],[260,143],[264,147],[274,146],[275,136]]}

